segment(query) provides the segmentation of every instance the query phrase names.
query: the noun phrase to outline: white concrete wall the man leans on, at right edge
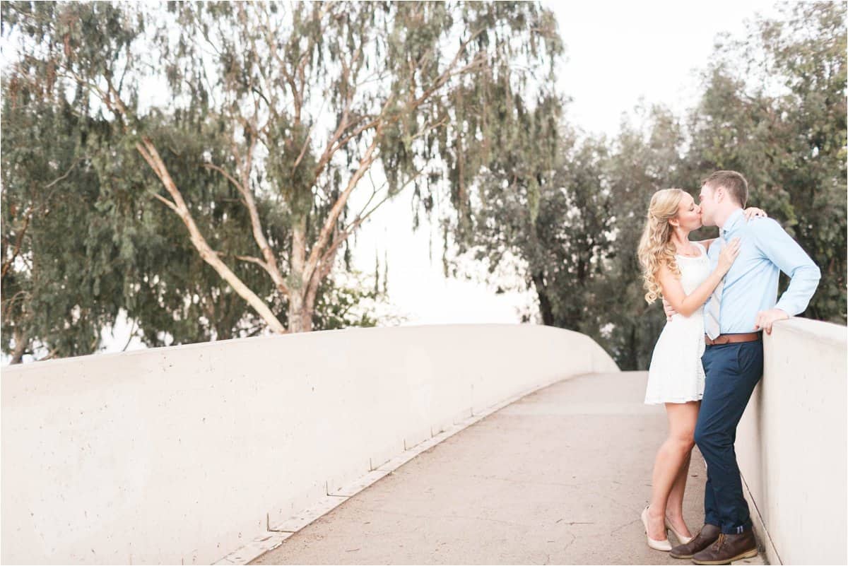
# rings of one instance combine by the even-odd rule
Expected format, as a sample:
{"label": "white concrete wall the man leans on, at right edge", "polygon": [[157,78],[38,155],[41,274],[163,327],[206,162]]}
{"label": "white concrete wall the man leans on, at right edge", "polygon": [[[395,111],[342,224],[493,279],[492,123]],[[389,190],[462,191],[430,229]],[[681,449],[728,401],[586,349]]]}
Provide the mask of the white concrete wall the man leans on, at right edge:
{"label": "white concrete wall the man leans on, at right edge", "polygon": [[845,333],[790,319],[765,337],[763,378],[739,423],[736,453],[773,564],[848,563]]}

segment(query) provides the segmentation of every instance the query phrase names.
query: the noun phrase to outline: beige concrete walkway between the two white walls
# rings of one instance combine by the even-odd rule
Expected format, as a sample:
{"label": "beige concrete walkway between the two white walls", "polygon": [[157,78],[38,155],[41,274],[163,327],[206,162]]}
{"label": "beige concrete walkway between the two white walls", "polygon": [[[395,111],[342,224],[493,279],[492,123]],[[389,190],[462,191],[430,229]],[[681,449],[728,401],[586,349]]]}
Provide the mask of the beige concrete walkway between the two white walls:
{"label": "beige concrete walkway between the two white walls", "polygon": [[[642,404],[646,379],[584,375],[524,397],[253,563],[689,563],[644,541],[639,513],[667,431],[664,409]],[[705,478],[695,449],[684,506],[692,530]]]}

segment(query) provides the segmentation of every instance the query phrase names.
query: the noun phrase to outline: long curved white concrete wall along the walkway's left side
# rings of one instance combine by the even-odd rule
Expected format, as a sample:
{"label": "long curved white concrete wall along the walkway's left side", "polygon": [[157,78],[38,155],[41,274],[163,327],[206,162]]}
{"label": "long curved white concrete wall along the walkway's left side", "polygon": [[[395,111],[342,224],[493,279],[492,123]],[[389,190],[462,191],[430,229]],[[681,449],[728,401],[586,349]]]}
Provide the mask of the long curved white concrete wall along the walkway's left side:
{"label": "long curved white concrete wall along the walkway's left side", "polygon": [[3,369],[2,561],[215,562],[471,412],[617,370],[589,337],[529,325],[337,330]]}

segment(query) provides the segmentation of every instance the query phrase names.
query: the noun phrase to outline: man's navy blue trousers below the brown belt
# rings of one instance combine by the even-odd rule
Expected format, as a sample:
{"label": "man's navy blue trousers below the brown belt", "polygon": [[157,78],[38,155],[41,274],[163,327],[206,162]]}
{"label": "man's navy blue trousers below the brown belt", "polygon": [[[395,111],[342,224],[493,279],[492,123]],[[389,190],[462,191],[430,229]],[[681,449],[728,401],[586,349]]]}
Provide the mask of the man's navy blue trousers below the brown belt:
{"label": "man's navy blue trousers below the brown belt", "polygon": [[706,460],[704,523],[722,533],[750,530],[748,503],[736,464],[736,426],[762,377],[762,341],[707,346],[701,361],[706,382],[695,443]]}

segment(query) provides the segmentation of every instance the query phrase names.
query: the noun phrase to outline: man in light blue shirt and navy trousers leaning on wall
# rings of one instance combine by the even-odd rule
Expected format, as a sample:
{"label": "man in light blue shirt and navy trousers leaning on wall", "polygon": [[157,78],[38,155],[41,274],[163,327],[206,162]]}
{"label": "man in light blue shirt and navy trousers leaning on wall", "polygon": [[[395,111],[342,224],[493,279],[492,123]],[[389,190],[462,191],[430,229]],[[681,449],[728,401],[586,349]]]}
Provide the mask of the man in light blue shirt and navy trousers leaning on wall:
{"label": "man in light blue shirt and navy trousers leaning on wall", "polygon": [[[740,238],[739,256],[704,306],[706,372],[695,443],[706,460],[704,526],[687,544],[672,548],[674,558],[696,564],[729,564],[756,556],[748,504],[736,463],[736,426],[754,386],[762,377],[762,330],[801,314],[816,291],[821,273],[812,259],[773,219],[745,221],[748,182],[735,171],[717,171],[703,181],[700,208],[704,225],[717,225],[720,237],[709,248],[713,267],[725,242]],[[778,277],[789,288],[778,301]],[[674,314],[666,304],[666,312]]]}

